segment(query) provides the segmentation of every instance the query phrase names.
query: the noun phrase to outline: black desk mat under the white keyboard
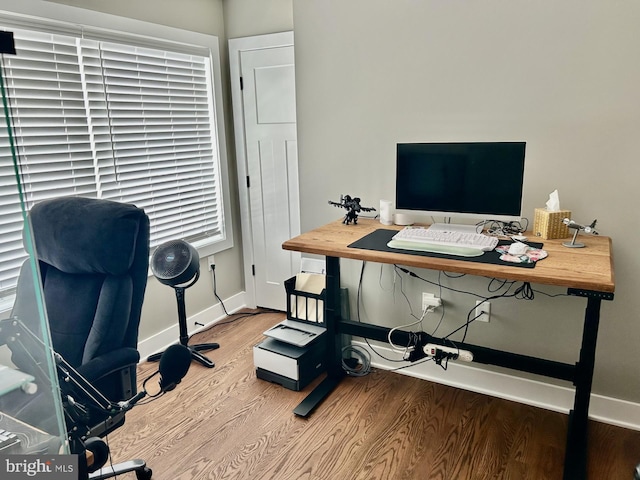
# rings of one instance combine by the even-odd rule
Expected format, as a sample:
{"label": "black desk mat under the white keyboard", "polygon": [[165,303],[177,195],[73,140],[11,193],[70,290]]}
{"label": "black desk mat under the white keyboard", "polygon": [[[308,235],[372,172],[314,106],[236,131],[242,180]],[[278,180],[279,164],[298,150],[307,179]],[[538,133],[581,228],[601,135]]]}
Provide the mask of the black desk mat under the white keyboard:
{"label": "black desk mat under the white keyboard", "polygon": [[[391,252],[391,253],[404,253],[407,255],[420,255],[423,257],[436,257],[436,258],[448,258],[451,260],[461,260],[463,262],[476,262],[476,263],[490,263],[493,265],[504,265],[508,267],[516,268],[534,268],[537,262],[534,263],[513,263],[500,260],[500,254],[498,252],[484,252],[484,254],[478,257],[460,257],[457,255],[446,255],[443,253],[422,252],[419,250],[402,250],[399,248],[391,248],[387,246],[387,243],[391,240],[397,230],[389,230],[386,228],[379,228],[368,235],[365,235],[360,240],[356,240],[352,244],[348,245],[348,248],[360,248],[362,250],[375,250],[378,252]],[[500,240],[498,245],[509,245],[512,243],[509,240]],[[542,248],[542,243],[538,242],[526,242],[534,248]]]}

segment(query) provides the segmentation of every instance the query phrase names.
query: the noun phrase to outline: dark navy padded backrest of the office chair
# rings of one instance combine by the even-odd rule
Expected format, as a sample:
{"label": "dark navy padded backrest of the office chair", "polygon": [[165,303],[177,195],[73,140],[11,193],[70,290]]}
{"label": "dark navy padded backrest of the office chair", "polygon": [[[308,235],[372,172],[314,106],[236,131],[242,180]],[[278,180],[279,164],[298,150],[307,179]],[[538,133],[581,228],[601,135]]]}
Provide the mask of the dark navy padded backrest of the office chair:
{"label": "dark navy padded backrest of the office chair", "polygon": [[[119,348],[136,349],[149,265],[144,211],[62,197],[36,204],[29,221],[56,352],[77,368]],[[12,312],[25,322],[34,315],[33,302],[20,295],[29,277],[23,267]]]}

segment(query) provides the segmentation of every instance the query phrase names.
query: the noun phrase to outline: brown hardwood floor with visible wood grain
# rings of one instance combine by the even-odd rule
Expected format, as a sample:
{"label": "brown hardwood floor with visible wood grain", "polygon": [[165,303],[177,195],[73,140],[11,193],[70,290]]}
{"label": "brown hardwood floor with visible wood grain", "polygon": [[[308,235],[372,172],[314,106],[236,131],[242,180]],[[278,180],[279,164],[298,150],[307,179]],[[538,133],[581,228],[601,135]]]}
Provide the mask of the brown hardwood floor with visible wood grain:
{"label": "brown hardwood floor with visible wood grain", "polygon": [[[311,386],[287,390],[253,366],[253,345],[282,318],[195,336],[220,343],[207,354],[216,367],[192,363],[173,392],[129,412],[109,437],[113,461],[143,458],[155,480],[562,478],[566,415],[398,373],[346,378],[308,419],[295,416]],[[156,368],[141,364],[139,382]],[[631,480],[639,462],[640,432],[591,422],[589,479]]]}

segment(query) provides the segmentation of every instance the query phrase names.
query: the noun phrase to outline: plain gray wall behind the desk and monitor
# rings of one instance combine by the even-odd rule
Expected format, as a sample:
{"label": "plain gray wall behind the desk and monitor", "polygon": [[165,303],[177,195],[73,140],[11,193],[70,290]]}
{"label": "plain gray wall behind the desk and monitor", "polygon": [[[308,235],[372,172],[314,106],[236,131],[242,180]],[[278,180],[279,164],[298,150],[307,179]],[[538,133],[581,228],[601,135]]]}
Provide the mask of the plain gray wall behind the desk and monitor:
{"label": "plain gray wall behind the desk and monitor", "polygon": [[[593,390],[640,401],[639,21],[634,0],[294,1],[302,230],[337,219],[327,200],[342,193],[371,206],[393,198],[397,142],[526,140],[524,214],[532,221],[558,189],[576,221],[597,218],[613,238],[616,297],[602,309]],[[354,292],[358,269],[344,278]],[[410,321],[393,280],[365,270],[366,320]],[[487,292],[485,279],[444,282]],[[405,289],[414,309],[435,290]],[[442,333],[475,304],[445,301]],[[467,341],[575,361],[583,305],[494,301],[492,322]]]}

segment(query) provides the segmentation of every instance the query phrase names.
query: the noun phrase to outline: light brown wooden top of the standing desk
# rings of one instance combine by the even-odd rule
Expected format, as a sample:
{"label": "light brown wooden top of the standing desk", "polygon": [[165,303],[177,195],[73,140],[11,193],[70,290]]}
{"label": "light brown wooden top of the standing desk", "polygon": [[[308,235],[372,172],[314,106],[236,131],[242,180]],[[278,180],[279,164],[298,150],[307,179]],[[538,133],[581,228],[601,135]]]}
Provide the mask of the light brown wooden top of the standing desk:
{"label": "light brown wooden top of the standing desk", "polygon": [[[540,240],[549,256],[538,261],[535,268],[493,265],[464,260],[442,259],[391,252],[348,248],[348,245],[378,228],[397,229],[395,225],[381,225],[378,220],[359,218],[357,225],[344,225],[342,220],[303,233],[282,244],[285,250],[330,257],[351,258],[376,263],[395,263],[408,267],[442,270],[469,275],[556,285],[567,288],[613,293],[615,279],[613,255],[609,237],[584,235],[578,241],[584,248],[567,248],[561,240]],[[534,239],[531,232],[525,235]]]}

